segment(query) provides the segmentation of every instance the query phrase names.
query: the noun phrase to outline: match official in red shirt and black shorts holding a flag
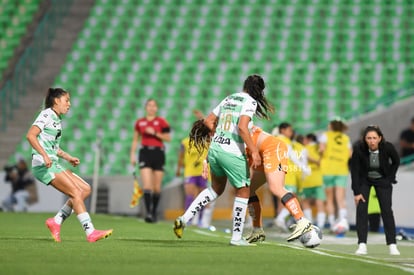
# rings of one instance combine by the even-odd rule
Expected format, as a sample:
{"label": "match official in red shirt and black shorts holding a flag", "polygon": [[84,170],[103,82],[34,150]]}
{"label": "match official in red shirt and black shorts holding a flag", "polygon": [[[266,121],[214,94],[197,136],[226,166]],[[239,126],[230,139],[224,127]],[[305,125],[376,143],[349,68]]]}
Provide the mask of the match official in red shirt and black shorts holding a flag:
{"label": "match official in red shirt and black shorts holding a flag", "polygon": [[164,177],[164,141],[171,140],[170,126],[164,118],[157,116],[157,111],[157,102],[148,99],[145,104],[145,117],[135,123],[130,152],[130,161],[135,167],[137,164],[135,154],[138,140],[141,139],[138,165],[144,189],[145,221],[148,223],[157,221],[157,208]]}

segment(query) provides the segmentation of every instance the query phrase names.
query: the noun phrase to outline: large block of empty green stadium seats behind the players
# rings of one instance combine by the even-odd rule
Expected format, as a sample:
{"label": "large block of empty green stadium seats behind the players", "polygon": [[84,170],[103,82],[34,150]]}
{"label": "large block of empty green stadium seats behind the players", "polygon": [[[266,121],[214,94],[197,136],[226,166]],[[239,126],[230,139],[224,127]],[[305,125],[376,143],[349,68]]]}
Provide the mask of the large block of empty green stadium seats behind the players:
{"label": "large block of empty green stadium seats behind the players", "polygon": [[[406,27],[413,7],[406,1],[97,0],[56,78],[76,103],[69,117],[76,123],[68,122],[77,127],[68,130],[77,137],[71,149],[90,160],[85,148],[99,132],[108,150],[102,173],[127,173],[133,124],[155,98],[172,128],[171,177],[179,141],[195,120],[192,110],[209,112],[252,73],[264,76],[276,107],[271,120],[257,124],[268,131],[281,121],[299,131],[325,129],[330,117],[352,116],[413,81],[414,30]],[[91,173],[93,166],[82,169]]]}

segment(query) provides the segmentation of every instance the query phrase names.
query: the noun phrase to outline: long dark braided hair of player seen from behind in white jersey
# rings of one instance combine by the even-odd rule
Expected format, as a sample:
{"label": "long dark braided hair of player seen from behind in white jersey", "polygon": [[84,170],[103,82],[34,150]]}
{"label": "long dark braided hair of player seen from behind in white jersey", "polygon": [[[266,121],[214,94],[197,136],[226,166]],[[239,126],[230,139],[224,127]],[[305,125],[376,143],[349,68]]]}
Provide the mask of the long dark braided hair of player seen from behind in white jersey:
{"label": "long dark braided hair of player seen from behind in white jersey", "polygon": [[273,106],[264,96],[265,83],[260,75],[249,75],[243,84],[243,90],[247,92],[257,102],[256,115],[259,118],[269,119],[269,112],[273,113]]}

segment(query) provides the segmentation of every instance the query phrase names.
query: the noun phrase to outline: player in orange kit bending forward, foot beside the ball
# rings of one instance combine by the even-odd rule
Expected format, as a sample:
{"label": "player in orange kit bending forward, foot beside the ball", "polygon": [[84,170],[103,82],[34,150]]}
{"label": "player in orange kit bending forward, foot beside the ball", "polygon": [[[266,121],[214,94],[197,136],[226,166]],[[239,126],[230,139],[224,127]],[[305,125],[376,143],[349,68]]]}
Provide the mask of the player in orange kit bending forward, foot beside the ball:
{"label": "player in orange kit bending forward, foot beside the ball", "polygon": [[[288,146],[278,137],[264,132],[259,127],[253,126],[251,135],[253,143],[263,159],[263,164],[251,168],[249,214],[253,220],[253,231],[247,237],[247,241],[254,243],[265,239],[261,206],[256,190],[266,182],[269,184],[270,192],[281,198],[283,206],[296,220],[294,230],[287,238],[288,241],[296,240],[303,233],[312,229],[312,223],[304,217],[295,194],[285,188],[285,175],[290,173]],[[250,156],[249,150],[248,155]]]}

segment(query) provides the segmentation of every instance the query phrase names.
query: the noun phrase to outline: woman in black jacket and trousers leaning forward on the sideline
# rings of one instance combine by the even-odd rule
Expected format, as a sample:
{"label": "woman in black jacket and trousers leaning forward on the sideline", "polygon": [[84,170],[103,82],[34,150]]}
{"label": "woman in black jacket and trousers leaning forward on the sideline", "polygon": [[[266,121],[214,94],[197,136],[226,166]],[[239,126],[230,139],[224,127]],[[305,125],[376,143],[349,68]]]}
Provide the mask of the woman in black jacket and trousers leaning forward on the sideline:
{"label": "woman in black jacket and trousers leaning forward on the sideline", "polygon": [[400,158],[394,146],[384,139],[378,126],[368,126],[361,142],[355,145],[351,157],[352,190],[356,204],[358,255],[367,254],[368,199],[371,186],[375,188],[381,208],[386,242],[391,255],[400,255],[395,238],[392,211],[392,189]]}

